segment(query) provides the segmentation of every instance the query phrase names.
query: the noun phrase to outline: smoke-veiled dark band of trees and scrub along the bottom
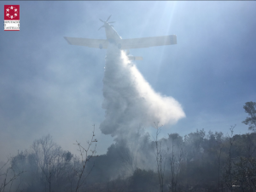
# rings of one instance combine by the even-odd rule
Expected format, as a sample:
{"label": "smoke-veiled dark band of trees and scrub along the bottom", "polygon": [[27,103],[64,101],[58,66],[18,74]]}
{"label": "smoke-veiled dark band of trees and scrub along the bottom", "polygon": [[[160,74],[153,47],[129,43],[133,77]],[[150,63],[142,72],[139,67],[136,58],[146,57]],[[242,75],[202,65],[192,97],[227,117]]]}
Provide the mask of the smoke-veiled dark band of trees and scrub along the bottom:
{"label": "smoke-veiled dark band of trees and scrub along the bottom", "polygon": [[[0,172],[0,191],[256,191],[256,103],[247,102],[243,121],[252,133],[197,130],[182,137],[150,139],[136,133],[116,139],[96,155],[94,132],[79,155],[62,150],[48,135],[11,157]],[[135,143],[137,142],[137,143]],[[134,146],[131,146],[131,143]]]}

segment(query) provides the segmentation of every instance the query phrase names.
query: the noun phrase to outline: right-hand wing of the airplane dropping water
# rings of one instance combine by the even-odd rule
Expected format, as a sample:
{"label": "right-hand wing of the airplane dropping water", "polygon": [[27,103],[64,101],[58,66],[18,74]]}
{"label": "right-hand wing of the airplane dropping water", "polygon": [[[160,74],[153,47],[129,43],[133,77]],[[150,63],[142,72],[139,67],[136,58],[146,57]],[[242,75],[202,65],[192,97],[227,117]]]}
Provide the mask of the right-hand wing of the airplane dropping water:
{"label": "right-hand wing of the airplane dropping water", "polygon": [[144,37],[134,39],[121,39],[119,47],[121,49],[131,48],[149,48],[161,45],[172,45],[177,44],[176,35],[172,36],[160,36],[160,37]]}

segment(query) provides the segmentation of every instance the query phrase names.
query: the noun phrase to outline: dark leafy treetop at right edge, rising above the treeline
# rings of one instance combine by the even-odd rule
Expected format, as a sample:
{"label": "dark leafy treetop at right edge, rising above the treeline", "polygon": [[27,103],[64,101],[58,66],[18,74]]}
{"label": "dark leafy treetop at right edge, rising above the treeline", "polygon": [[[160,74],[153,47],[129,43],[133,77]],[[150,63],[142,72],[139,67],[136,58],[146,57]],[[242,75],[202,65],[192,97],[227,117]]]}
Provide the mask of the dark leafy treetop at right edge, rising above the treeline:
{"label": "dark leafy treetop at right edge, rising above the treeline", "polygon": [[250,101],[247,102],[243,109],[250,116],[247,117],[245,121],[241,121],[242,123],[249,125],[248,129],[253,132],[256,131],[256,102]]}

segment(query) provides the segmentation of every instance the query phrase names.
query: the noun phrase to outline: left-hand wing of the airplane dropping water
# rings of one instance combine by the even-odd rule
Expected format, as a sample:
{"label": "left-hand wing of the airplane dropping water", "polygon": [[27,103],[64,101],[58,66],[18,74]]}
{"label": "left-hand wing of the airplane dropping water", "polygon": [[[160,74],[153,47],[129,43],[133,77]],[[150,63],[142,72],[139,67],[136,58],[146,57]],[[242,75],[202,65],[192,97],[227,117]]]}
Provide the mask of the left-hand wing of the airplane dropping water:
{"label": "left-hand wing of the airplane dropping water", "polygon": [[86,39],[86,38],[74,38],[64,37],[71,45],[85,46],[89,48],[108,48],[108,40],[105,39]]}

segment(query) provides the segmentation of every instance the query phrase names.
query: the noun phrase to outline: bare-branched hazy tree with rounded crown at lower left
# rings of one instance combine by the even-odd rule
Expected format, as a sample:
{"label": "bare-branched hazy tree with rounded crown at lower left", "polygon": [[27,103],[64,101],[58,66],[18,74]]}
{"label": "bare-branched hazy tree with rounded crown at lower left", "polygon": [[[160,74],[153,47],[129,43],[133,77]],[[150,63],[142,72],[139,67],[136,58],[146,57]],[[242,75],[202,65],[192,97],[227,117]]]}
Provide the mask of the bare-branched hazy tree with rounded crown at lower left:
{"label": "bare-branched hazy tree with rounded crown at lower left", "polygon": [[25,191],[63,191],[68,189],[68,177],[73,175],[76,158],[69,151],[62,150],[50,135],[35,140],[32,150],[25,150],[11,158],[10,168],[20,175],[21,184],[16,187]]}

